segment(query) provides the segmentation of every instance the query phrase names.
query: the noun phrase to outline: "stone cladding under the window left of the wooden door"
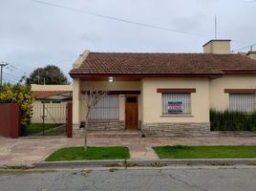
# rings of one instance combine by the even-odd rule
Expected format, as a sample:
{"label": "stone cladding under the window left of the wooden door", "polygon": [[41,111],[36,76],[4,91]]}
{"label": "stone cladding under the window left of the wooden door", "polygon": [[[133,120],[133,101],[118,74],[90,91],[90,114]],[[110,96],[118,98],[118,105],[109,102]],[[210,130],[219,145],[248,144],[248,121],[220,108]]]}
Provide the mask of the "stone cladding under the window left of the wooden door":
{"label": "stone cladding under the window left of the wooden door", "polygon": [[89,131],[121,131],[125,130],[125,122],[121,120],[90,121]]}

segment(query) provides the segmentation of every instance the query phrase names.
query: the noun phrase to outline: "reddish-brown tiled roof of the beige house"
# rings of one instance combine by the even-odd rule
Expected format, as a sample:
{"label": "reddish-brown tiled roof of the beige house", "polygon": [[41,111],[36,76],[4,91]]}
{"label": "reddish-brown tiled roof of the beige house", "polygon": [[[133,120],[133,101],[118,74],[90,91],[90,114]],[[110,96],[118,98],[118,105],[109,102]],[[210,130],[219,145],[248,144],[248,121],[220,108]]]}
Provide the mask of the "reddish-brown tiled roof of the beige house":
{"label": "reddish-brown tiled roof of the beige house", "polygon": [[256,72],[256,60],[241,54],[89,53],[71,76],[83,74],[226,74]]}

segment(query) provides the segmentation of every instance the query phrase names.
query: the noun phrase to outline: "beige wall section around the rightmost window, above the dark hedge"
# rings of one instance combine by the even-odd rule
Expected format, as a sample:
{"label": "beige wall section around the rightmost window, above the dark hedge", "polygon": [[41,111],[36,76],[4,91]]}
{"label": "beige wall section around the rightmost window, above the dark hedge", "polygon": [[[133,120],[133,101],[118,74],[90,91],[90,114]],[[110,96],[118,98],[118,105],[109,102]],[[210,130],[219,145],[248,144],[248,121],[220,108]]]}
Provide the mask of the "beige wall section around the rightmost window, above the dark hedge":
{"label": "beige wall section around the rightmost window, above the dark hedge", "polygon": [[229,95],[224,89],[256,89],[256,75],[224,75],[210,81],[210,108],[225,110],[229,107]]}

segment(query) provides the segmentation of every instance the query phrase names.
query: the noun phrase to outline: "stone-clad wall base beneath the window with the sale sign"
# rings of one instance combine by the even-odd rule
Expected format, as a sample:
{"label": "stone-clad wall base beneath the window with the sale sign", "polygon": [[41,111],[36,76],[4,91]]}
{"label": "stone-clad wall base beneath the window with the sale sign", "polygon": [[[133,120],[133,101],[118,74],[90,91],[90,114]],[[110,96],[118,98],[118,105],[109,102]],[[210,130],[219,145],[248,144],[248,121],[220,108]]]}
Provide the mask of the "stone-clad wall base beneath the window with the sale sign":
{"label": "stone-clad wall base beneath the window with the sale sign", "polygon": [[210,123],[142,123],[145,137],[206,137]]}

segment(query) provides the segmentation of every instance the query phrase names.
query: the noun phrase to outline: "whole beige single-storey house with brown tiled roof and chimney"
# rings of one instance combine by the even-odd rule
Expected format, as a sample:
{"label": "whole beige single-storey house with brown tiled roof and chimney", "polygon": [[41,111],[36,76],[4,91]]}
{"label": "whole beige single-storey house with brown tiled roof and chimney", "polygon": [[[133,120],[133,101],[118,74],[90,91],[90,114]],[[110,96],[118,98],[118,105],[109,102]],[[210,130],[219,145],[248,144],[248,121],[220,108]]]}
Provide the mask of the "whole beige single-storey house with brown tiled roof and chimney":
{"label": "whole beige single-storey house with brown tiled roof and chimney", "polygon": [[231,54],[230,40],[211,40],[203,53],[84,52],[70,75],[74,124],[85,120],[82,91],[109,91],[90,115],[91,130],[203,136],[210,109],[249,113],[256,106],[256,60]]}

